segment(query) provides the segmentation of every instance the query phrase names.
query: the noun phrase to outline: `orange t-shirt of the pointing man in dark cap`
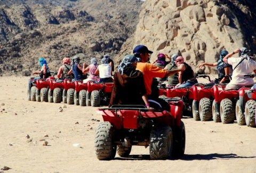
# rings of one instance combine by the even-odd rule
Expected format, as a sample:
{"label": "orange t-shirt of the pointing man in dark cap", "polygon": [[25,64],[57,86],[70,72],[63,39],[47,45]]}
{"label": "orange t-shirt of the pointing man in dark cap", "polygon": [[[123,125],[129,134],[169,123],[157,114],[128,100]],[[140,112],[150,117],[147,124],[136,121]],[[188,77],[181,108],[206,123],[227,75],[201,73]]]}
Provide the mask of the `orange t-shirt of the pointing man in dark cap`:
{"label": "orange t-shirt of the pointing man in dark cap", "polygon": [[163,78],[166,75],[167,70],[156,67],[150,63],[137,62],[137,68],[143,73],[144,83],[147,90],[147,94],[151,94],[151,85],[153,83],[153,78]]}

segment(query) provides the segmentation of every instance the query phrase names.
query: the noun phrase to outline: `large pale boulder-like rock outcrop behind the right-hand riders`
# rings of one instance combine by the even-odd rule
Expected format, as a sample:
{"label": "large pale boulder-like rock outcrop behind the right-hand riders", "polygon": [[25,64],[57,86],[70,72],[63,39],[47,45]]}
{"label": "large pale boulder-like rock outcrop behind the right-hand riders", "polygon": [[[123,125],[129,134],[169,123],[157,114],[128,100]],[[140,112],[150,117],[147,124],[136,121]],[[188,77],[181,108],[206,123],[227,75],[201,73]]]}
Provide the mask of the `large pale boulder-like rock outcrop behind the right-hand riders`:
{"label": "large pale boulder-like rock outcrop behind the right-hand riders", "polygon": [[[180,51],[193,67],[217,61],[223,48],[234,51],[246,46],[255,53],[255,9],[253,0],[147,0],[134,36],[123,45],[118,57],[137,44],[153,50],[153,60],[160,52]],[[204,71],[214,72],[215,68]]]}

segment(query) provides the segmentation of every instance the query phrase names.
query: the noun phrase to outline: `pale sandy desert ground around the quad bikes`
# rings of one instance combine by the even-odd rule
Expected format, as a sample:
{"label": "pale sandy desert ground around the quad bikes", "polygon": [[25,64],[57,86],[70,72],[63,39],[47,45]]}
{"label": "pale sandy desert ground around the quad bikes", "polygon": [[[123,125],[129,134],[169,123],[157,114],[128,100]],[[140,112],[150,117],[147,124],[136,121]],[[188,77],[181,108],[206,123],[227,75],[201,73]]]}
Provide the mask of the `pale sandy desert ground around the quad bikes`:
{"label": "pale sandy desert ground around the quad bikes", "polygon": [[182,119],[187,142],[179,160],[149,160],[148,148],[134,146],[129,158],[99,161],[96,108],[58,112],[62,103],[29,102],[27,80],[0,77],[0,172],[256,172],[256,128],[191,118]]}

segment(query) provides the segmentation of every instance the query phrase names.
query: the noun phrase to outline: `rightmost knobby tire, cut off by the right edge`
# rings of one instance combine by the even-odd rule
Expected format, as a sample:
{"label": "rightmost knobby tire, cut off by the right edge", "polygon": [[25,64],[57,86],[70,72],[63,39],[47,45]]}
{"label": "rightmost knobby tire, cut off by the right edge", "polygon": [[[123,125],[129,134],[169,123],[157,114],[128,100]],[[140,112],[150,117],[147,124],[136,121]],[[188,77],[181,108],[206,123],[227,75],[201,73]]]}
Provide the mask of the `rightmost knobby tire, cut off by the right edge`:
{"label": "rightmost knobby tire, cut off by the right edge", "polygon": [[256,127],[255,124],[255,106],[256,101],[249,100],[245,104],[245,122],[246,126]]}

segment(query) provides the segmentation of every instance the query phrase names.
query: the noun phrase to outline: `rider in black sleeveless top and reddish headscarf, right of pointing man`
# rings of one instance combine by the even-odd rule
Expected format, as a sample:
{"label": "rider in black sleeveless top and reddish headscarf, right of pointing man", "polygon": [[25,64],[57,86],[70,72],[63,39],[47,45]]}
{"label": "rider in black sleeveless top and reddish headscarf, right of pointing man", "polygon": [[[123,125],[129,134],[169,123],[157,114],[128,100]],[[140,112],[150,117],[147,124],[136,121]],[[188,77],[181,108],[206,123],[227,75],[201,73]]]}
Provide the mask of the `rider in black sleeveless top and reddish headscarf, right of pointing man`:
{"label": "rider in black sleeveless top and reddish headscarf, right of pointing man", "polygon": [[190,87],[198,83],[193,69],[190,65],[184,62],[184,58],[182,56],[177,57],[175,64],[178,66],[178,69],[181,70],[178,77],[179,84],[177,84],[176,87]]}

